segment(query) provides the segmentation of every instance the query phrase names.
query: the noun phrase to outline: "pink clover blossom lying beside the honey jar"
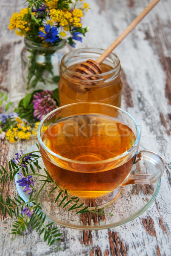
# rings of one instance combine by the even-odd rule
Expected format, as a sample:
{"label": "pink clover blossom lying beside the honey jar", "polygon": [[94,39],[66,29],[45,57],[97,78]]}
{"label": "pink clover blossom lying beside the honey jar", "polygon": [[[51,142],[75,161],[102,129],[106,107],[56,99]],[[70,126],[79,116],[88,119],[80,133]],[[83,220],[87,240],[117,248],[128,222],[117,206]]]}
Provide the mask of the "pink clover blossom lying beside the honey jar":
{"label": "pink clover blossom lying beside the honey jar", "polygon": [[52,95],[53,92],[48,90],[44,90],[34,95],[34,100],[32,102],[34,104],[34,117],[36,117],[36,119],[42,120],[46,114],[58,108]]}

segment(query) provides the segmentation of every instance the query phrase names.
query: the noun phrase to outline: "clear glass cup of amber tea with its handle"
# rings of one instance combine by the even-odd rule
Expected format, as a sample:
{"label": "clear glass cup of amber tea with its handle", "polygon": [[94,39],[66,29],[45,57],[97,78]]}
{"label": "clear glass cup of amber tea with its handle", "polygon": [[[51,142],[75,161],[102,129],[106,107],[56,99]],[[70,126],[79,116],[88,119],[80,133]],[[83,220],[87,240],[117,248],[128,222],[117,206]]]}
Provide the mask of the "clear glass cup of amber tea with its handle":
{"label": "clear glass cup of amber tea with its handle", "polygon": [[[139,151],[137,121],[112,105],[83,102],[57,108],[42,119],[37,137],[49,175],[90,208],[110,204],[121,186],[154,183],[164,172],[159,155]],[[152,163],[154,172],[132,175],[140,160]]]}

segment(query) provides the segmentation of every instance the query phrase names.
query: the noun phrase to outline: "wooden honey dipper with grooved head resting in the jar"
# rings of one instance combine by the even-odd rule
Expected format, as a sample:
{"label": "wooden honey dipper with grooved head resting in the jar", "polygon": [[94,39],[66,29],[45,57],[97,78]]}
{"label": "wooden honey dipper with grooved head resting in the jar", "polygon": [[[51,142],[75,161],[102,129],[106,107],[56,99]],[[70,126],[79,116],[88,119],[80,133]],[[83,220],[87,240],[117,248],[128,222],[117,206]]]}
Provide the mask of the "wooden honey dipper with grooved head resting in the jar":
{"label": "wooden honey dipper with grooved head resting in the jar", "polygon": [[[96,60],[87,60],[86,62],[81,63],[75,70],[79,75],[75,78],[81,80],[93,80],[93,76],[81,76],[80,74],[85,75],[98,75],[102,73],[100,64],[104,61],[105,58],[121,43],[121,41],[137,26],[137,24],[153,9],[153,7],[160,0],[153,0],[149,5],[143,10],[143,12],[138,15],[134,21],[119,35],[119,37],[101,54],[101,56]],[[94,78],[94,79],[97,79]],[[77,79],[76,79],[77,80]],[[77,80],[78,81],[78,80]]]}

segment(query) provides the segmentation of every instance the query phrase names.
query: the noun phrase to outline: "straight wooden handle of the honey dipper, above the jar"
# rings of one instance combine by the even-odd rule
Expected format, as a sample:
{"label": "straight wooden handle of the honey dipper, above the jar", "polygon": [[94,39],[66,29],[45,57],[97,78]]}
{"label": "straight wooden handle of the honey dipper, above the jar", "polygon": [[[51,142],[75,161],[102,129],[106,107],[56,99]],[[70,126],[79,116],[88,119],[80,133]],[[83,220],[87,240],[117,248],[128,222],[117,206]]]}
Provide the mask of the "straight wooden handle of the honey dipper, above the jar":
{"label": "straight wooden handle of the honey dipper, above the jar", "polygon": [[152,0],[151,3],[141,12],[135,20],[119,35],[118,38],[102,53],[102,55],[96,60],[98,64],[104,61],[104,59],[121,43],[121,41],[132,31],[132,29],[137,26],[137,24],[145,17],[151,9],[159,2],[160,0]]}

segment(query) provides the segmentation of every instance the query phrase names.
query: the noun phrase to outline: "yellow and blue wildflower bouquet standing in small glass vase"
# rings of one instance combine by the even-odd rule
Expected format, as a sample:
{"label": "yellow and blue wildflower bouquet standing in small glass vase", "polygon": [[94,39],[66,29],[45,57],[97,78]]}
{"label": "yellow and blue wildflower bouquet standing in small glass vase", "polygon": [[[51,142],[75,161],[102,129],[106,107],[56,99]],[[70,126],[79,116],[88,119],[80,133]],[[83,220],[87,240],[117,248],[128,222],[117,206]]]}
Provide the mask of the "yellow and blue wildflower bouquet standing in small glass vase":
{"label": "yellow and blue wildflower bouquet standing in small glass vase", "polygon": [[88,31],[82,27],[81,18],[89,5],[82,1],[27,0],[28,7],[12,15],[9,29],[25,37],[22,74],[25,77],[27,70],[27,90],[35,90],[38,82],[45,85],[59,81],[56,73],[59,67],[54,65],[56,60],[60,62],[61,55],[56,56],[55,52],[64,47],[66,41],[75,47],[75,42],[82,41],[81,35]]}

